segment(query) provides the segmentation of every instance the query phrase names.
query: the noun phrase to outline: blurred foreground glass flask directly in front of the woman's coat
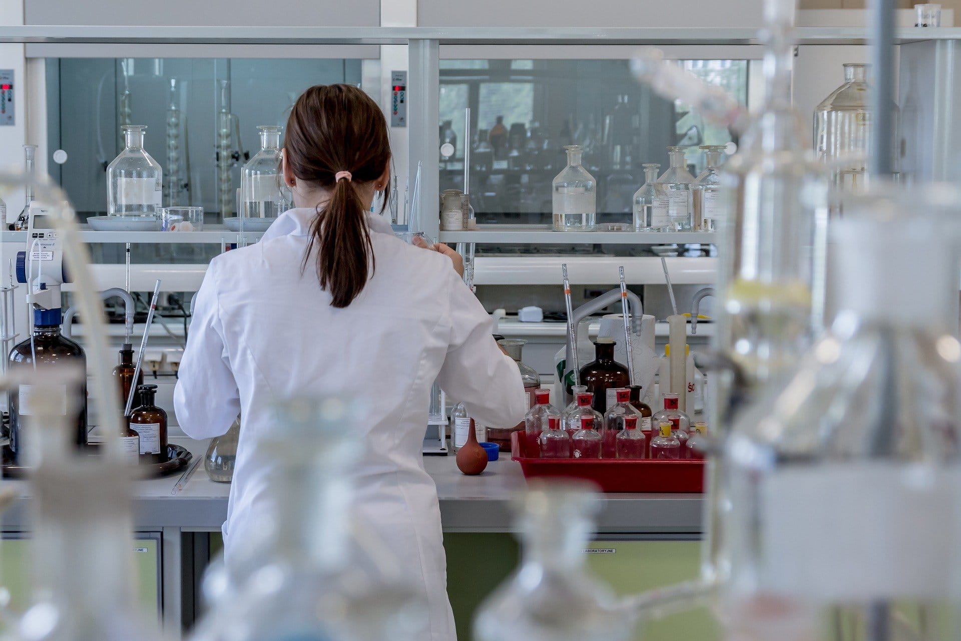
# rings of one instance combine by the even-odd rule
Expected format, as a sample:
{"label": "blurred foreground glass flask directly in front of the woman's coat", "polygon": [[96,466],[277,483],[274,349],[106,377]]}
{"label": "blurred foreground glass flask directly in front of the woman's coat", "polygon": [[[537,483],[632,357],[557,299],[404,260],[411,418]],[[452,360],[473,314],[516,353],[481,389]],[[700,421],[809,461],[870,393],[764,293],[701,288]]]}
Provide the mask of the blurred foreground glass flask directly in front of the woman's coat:
{"label": "blurred foreground glass flask directly in front of the woman's coat", "polygon": [[[193,638],[222,641],[314,639],[414,641],[426,604],[403,577],[370,571],[355,554],[351,469],[360,441],[345,430],[362,412],[337,398],[274,404],[274,425],[259,438],[275,474],[264,535],[228,557],[232,588]],[[419,641],[419,639],[418,639]]]}

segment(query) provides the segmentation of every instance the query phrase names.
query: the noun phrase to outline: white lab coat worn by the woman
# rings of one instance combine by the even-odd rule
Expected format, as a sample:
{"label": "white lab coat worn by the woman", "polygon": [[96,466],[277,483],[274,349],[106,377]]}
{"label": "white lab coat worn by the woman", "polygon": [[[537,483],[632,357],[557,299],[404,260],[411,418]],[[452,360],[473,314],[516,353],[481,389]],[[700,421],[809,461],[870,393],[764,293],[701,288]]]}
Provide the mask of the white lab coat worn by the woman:
{"label": "white lab coat worn by the woman", "polygon": [[[333,308],[314,259],[301,270],[314,210],[283,213],[254,245],[210,261],[197,294],[174,404],[194,438],[224,433],[242,416],[225,552],[256,537],[267,508],[269,461],[256,447],[268,406],[296,394],[357,395],[366,420],[344,428],[365,443],[354,472],[357,516],[372,524],[430,604],[430,633],[454,641],[436,488],[421,455],[431,384],[485,425],[523,419],[516,364],[451,261],[394,237],[368,215],[373,277],[347,308]],[[454,464],[454,461],[451,461]]]}

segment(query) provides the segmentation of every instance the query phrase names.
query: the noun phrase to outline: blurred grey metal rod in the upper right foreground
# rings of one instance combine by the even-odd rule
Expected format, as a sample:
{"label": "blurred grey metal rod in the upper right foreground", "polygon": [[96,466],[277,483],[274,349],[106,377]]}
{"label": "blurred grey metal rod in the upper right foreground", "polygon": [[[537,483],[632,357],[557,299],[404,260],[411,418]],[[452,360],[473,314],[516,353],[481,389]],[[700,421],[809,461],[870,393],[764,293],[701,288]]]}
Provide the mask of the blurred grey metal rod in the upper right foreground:
{"label": "blurred grey metal rod in the upper right foreground", "polygon": [[872,0],[868,16],[871,62],[875,87],[871,94],[871,158],[868,169],[873,178],[886,179],[894,173],[895,122],[895,0]]}

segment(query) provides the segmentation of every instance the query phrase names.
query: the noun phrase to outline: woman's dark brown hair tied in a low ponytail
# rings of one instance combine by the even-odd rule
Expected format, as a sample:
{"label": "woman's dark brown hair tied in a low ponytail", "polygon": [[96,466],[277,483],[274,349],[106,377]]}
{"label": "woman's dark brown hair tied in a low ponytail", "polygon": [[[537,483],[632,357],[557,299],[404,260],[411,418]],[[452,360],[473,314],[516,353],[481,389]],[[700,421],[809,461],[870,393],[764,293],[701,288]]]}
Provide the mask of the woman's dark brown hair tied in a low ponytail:
{"label": "woman's dark brown hair tied in a low ponytail", "polygon": [[[310,224],[302,269],[317,248],[317,278],[335,308],[357,298],[374,270],[374,251],[359,185],[377,180],[390,161],[383,113],[351,85],[311,86],[287,119],[283,157],[298,180],[331,199]],[[340,172],[350,175],[337,180]]]}

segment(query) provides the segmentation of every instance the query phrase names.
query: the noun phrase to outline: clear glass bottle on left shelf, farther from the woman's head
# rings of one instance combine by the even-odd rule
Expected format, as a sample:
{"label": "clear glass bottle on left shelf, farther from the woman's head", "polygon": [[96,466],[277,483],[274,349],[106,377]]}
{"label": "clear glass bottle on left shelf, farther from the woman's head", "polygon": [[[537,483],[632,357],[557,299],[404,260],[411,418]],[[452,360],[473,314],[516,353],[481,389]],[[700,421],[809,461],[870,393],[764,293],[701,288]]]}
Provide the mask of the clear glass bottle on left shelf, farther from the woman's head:
{"label": "clear glass bottle on left shelf, farther from the woman's head", "polygon": [[107,167],[107,212],[111,215],[160,214],[163,169],[143,149],[146,125],[124,125],[125,147]]}

